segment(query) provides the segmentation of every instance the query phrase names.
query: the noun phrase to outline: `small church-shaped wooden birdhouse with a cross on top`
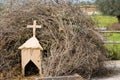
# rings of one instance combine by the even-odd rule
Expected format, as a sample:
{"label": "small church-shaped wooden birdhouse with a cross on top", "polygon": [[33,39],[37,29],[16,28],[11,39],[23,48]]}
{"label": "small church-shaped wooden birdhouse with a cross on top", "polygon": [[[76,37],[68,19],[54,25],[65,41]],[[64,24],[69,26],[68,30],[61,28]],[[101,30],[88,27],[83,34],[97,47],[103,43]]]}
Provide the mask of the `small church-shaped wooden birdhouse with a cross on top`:
{"label": "small church-shaped wooden birdhouse with a cross on top", "polygon": [[19,47],[21,49],[22,74],[24,76],[42,75],[41,51],[43,48],[35,37],[36,28],[41,28],[41,26],[36,25],[36,20],[34,20],[33,25],[28,25],[27,28],[33,28],[33,37]]}

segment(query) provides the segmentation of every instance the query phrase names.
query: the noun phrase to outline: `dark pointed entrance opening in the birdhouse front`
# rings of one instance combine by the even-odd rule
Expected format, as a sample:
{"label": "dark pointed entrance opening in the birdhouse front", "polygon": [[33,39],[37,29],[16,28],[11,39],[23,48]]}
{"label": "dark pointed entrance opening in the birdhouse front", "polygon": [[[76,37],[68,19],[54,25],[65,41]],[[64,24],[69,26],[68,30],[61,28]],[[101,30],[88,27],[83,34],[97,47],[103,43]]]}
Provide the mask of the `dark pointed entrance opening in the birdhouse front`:
{"label": "dark pointed entrance opening in the birdhouse front", "polygon": [[39,74],[39,69],[30,60],[29,63],[25,66],[25,76],[38,75],[38,74]]}

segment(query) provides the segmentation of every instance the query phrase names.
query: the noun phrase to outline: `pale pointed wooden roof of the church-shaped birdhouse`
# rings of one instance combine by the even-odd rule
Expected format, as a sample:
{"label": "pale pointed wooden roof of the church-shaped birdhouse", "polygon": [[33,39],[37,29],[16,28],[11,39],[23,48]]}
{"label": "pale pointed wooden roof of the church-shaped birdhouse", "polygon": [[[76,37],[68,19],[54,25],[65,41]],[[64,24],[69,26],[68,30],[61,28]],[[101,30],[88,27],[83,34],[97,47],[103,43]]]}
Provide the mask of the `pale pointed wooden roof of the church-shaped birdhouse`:
{"label": "pale pointed wooden roof of the church-shaped birdhouse", "polygon": [[22,46],[19,47],[19,49],[25,49],[25,48],[31,48],[31,49],[37,48],[43,50],[43,48],[39,44],[38,39],[35,36],[27,40]]}

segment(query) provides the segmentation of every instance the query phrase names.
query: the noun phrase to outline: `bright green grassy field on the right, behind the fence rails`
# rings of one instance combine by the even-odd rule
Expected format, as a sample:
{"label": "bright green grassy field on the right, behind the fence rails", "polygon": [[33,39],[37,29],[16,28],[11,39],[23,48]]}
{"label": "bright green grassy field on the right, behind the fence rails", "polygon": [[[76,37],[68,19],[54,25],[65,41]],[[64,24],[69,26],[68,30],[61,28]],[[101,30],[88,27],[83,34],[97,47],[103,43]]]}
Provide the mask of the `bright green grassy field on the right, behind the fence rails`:
{"label": "bright green grassy field on the right, behind the fence rails", "polygon": [[[92,19],[96,22],[96,27],[107,27],[117,22],[117,18],[103,15],[94,15]],[[108,41],[120,41],[120,33],[106,33],[104,36]],[[105,46],[111,59],[120,59],[120,44],[105,44]]]}

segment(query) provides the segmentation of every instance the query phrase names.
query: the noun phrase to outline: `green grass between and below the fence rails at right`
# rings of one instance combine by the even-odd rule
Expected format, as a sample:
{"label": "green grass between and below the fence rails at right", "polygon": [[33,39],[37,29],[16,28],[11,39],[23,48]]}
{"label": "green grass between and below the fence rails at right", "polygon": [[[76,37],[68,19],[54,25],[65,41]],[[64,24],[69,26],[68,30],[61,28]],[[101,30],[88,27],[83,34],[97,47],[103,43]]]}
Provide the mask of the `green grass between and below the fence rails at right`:
{"label": "green grass between and below the fence rails at right", "polygon": [[[120,33],[106,33],[105,37],[108,41],[119,41]],[[109,57],[114,60],[120,60],[120,44],[105,44],[109,51]]]}

